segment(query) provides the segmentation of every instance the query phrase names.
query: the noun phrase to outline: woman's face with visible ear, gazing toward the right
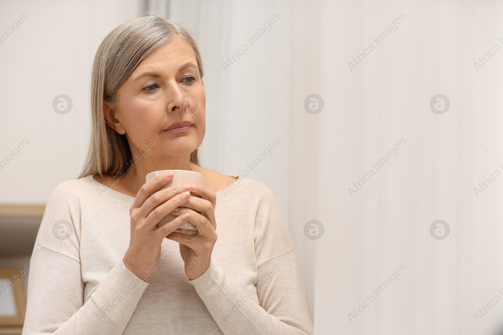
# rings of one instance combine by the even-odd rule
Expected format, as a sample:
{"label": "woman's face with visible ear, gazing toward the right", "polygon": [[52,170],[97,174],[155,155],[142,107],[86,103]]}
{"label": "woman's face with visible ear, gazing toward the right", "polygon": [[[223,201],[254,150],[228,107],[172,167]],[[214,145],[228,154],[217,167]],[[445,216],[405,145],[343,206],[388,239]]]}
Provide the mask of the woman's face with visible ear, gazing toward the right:
{"label": "woman's face with visible ear, gazing toward the right", "polygon": [[[145,146],[155,143],[148,150],[152,158],[182,158],[203,142],[206,130],[203,81],[194,50],[176,35],[145,57],[119,87],[118,96],[115,108],[107,107],[108,102],[104,101],[105,116],[113,129],[126,134],[133,155],[141,149],[145,152]],[[110,108],[112,116],[107,111]],[[192,126],[167,130],[180,127],[180,122]]]}

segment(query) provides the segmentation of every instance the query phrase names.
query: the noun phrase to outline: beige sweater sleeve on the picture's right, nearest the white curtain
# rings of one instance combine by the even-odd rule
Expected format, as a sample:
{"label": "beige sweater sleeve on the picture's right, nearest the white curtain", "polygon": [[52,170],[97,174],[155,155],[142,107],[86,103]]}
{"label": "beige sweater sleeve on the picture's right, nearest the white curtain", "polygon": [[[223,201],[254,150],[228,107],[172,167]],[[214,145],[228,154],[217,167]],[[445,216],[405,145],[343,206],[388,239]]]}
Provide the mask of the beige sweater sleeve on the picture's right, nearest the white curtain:
{"label": "beige sweater sleeve on the picture's right, nearest the white curtain", "polygon": [[290,234],[269,188],[263,185],[260,191],[264,196],[255,223],[259,304],[213,260],[189,283],[225,335],[312,335],[314,326]]}

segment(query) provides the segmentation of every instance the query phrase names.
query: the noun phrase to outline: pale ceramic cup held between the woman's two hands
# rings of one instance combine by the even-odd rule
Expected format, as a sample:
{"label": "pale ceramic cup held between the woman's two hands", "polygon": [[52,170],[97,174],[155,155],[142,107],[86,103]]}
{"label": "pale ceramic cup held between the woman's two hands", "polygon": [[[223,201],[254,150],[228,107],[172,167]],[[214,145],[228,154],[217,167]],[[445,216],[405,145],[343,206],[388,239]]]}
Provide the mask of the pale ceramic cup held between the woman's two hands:
{"label": "pale ceramic cup held between the woman's two hands", "polygon": [[[170,172],[170,171],[173,172],[172,180],[169,183],[167,183],[166,185],[159,188],[158,190],[168,188],[171,186],[175,186],[175,185],[185,185],[185,184],[202,185],[203,184],[203,175],[198,172],[189,171],[189,170],[160,170],[160,171],[150,172],[149,174],[147,174],[147,176],[145,178],[145,182],[149,181],[150,179],[154,178],[155,176],[158,176],[159,174],[163,174],[163,173]],[[195,194],[191,194],[191,196],[200,197]],[[175,215],[173,215],[172,213],[169,213],[166,216],[164,216],[164,218],[162,220],[159,221],[159,223],[157,224],[157,227],[161,227],[161,226],[167,224],[167,222],[170,222],[171,220],[173,220],[175,218],[176,218]],[[182,224],[182,226],[180,226],[178,229],[175,230],[175,232],[182,233],[182,234],[188,234],[188,235],[198,235],[199,234],[197,227],[194,226],[193,224],[191,224],[189,221],[185,221],[184,224]]]}

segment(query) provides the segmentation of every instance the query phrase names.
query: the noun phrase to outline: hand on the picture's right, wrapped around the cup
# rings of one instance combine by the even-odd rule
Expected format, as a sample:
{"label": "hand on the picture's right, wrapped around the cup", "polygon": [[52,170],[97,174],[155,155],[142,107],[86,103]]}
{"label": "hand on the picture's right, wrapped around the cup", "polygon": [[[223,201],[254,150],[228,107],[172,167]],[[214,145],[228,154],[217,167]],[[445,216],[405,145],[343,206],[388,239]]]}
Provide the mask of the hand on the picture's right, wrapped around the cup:
{"label": "hand on the picture's right, wrapped around the cup", "polygon": [[[185,262],[185,274],[189,280],[201,276],[210,266],[211,252],[217,241],[215,221],[216,194],[206,186],[192,184],[191,196],[176,212],[175,216],[189,213],[187,221],[199,229],[199,235],[188,235],[173,232],[166,239],[180,243],[180,255]],[[197,187],[194,189],[194,187]],[[197,196],[198,195],[201,198]]]}

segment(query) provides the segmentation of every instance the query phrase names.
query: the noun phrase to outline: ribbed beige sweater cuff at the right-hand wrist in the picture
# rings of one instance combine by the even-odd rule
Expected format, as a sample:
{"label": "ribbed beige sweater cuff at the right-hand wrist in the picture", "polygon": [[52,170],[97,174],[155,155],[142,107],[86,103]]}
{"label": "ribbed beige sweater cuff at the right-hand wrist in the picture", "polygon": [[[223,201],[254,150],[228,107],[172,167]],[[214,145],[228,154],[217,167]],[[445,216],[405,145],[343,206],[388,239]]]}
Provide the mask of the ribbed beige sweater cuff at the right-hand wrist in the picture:
{"label": "ribbed beige sweater cuff at the right-hand wrist in the picture", "polygon": [[[199,277],[189,280],[215,321],[232,318],[249,298],[211,260],[208,269]],[[241,298],[243,297],[243,298]]]}

